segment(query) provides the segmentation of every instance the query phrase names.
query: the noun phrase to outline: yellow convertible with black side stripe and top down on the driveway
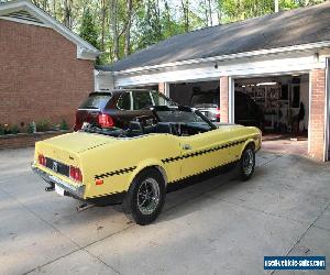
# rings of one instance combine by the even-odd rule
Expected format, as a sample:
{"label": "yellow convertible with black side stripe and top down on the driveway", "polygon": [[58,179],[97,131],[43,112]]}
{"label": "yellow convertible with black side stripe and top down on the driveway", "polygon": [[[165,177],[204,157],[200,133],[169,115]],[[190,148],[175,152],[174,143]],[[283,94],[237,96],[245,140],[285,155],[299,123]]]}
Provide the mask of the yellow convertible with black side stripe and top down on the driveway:
{"label": "yellow convertible with black side stripe and top down on the driveway", "polygon": [[213,124],[187,107],[152,111],[152,119],[136,118],[127,130],[85,124],[37,142],[32,168],[46,190],[96,205],[123,202],[139,224],[154,221],[169,187],[189,177],[232,164],[243,180],[252,176],[258,129]]}

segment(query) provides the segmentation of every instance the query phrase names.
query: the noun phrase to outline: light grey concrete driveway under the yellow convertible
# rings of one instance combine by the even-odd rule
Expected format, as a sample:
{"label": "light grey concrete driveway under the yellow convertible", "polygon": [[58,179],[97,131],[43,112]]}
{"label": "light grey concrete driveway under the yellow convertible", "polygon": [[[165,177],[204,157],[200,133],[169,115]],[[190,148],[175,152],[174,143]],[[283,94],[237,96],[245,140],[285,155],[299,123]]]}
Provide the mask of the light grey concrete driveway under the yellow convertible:
{"label": "light grey concrete driveway under the yellow convertible", "polygon": [[251,180],[228,173],[168,194],[140,227],[120,206],[76,212],[78,201],[44,193],[32,154],[0,151],[0,274],[264,274],[264,255],[330,261],[329,163],[260,152]]}

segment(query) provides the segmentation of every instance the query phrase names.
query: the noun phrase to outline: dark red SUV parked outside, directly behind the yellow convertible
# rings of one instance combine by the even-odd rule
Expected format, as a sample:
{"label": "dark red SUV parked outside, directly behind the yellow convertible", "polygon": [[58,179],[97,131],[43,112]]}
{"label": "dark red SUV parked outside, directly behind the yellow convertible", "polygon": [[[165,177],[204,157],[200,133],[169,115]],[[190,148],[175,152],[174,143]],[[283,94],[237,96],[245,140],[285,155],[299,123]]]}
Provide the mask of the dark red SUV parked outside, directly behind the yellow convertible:
{"label": "dark red SUV parked outside, directly behind the yellow convertible", "polygon": [[169,98],[154,90],[119,89],[91,92],[76,112],[75,131],[84,122],[99,128],[127,129],[136,117],[152,117],[151,106],[176,106]]}

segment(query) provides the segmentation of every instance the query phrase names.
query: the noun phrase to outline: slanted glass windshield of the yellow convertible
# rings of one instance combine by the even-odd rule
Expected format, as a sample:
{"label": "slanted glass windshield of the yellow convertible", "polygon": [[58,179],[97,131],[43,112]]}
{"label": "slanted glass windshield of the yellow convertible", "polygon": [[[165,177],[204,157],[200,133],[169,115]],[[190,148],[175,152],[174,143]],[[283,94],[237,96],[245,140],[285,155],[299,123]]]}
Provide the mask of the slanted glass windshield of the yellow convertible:
{"label": "slanted glass windshield of the yellow convertible", "polygon": [[209,130],[216,129],[215,124],[204,117],[200,112],[194,111],[190,108],[185,107],[172,107],[162,108],[158,107],[155,110],[156,117],[161,122],[174,122],[174,123],[186,123],[186,124],[200,124],[208,128]]}

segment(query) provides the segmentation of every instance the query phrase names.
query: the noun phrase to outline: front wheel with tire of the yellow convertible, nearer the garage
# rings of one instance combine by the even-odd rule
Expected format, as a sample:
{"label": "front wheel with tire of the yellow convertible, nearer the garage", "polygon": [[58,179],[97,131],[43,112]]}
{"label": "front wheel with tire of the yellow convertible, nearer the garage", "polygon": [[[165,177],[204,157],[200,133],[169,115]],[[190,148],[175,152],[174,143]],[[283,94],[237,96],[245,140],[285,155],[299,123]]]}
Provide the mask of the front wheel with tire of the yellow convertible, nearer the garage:
{"label": "front wheel with tire of the yellow convertible, nearer the garage", "polygon": [[251,178],[255,167],[255,152],[254,146],[249,144],[241,156],[239,164],[239,174],[242,180],[248,180]]}

